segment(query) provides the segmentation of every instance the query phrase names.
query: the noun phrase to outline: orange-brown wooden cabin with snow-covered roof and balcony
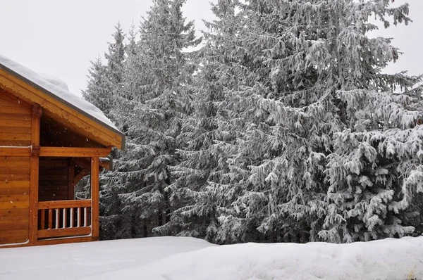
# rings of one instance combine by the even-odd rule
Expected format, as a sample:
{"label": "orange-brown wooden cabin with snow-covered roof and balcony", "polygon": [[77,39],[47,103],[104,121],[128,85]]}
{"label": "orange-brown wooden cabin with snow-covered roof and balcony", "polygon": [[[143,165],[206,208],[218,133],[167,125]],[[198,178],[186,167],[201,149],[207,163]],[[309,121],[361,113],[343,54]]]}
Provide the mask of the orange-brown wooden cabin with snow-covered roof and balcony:
{"label": "orange-brown wooden cabin with snow-covered roof and balcony", "polygon": [[98,108],[0,56],[0,248],[98,240],[99,171],[123,146]]}

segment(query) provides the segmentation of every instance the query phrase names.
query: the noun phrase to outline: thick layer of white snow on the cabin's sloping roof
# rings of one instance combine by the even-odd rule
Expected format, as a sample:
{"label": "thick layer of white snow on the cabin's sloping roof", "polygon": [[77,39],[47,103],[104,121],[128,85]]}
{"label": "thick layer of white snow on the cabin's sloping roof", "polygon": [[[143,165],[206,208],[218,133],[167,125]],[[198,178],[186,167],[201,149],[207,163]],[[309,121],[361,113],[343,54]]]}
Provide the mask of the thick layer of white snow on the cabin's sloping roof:
{"label": "thick layer of white snow on the cabin's sloping roof", "polygon": [[87,117],[94,118],[94,120],[102,125],[119,132],[113,122],[111,122],[111,120],[109,120],[99,108],[82,99],[80,96],[68,91],[65,82],[49,75],[39,75],[29,68],[26,68],[25,66],[1,55],[0,68],[6,70],[7,72],[11,72],[12,75],[27,79],[29,82],[32,82],[41,88],[46,94],[49,94],[71,108],[80,111],[80,113],[87,115]]}

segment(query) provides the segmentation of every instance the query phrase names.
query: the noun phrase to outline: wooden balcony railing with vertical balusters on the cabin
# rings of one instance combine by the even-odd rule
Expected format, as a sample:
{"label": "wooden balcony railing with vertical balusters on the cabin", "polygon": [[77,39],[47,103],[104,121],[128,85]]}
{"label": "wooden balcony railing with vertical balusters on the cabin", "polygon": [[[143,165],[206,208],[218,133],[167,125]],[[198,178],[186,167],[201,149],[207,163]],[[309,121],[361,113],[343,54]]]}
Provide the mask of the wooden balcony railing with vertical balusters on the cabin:
{"label": "wooden balcony railing with vertical balusters on the cabin", "polygon": [[38,203],[37,238],[90,235],[91,200]]}

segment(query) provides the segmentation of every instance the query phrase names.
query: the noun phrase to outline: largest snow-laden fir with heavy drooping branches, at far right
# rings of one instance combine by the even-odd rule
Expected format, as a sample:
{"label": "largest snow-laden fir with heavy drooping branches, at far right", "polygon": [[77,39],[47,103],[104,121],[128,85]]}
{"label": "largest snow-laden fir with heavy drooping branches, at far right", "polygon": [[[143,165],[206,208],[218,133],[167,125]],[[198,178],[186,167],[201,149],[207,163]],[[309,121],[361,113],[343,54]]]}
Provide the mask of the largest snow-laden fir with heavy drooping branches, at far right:
{"label": "largest snow-laden fir with heavy drooping branches, at far right", "polygon": [[[278,20],[255,34],[271,84],[256,85],[265,122],[242,146],[261,153],[235,207],[262,211],[259,231],[273,241],[368,241],[410,234],[418,190],[419,77],[386,75],[398,58],[390,39],[369,38],[376,15],[385,27],[407,23],[408,6],[386,1],[248,1],[269,4]],[[404,92],[395,93],[396,87]],[[268,96],[264,98],[263,96]],[[396,139],[396,145],[388,145]],[[417,146],[406,152],[407,143]],[[389,147],[389,148],[388,148]],[[245,149],[244,148],[244,149]],[[254,150],[252,150],[254,149]],[[242,150],[241,150],[242,151]],[[404,160],[404,161],[403,161]],[[414,186],[414,188],[413,188]],[[322,230],[323,229],[323,230]],[[275,236],[276,234],[276,236]]]}

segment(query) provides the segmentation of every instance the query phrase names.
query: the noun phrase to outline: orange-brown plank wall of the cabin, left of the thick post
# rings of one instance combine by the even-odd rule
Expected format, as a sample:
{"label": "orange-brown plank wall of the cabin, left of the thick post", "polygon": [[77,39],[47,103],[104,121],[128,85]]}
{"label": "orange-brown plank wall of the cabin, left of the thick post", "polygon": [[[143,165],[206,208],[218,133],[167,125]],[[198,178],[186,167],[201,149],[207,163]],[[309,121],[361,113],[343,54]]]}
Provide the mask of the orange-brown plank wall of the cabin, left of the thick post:
{"label": "orange-brown plank wall of the cabin, left of the thick post", "polygon": [[[30,146],[32,108],[0,90],[0,146]],[[30,157],[0,156],[0,245],[29,237]]]}

